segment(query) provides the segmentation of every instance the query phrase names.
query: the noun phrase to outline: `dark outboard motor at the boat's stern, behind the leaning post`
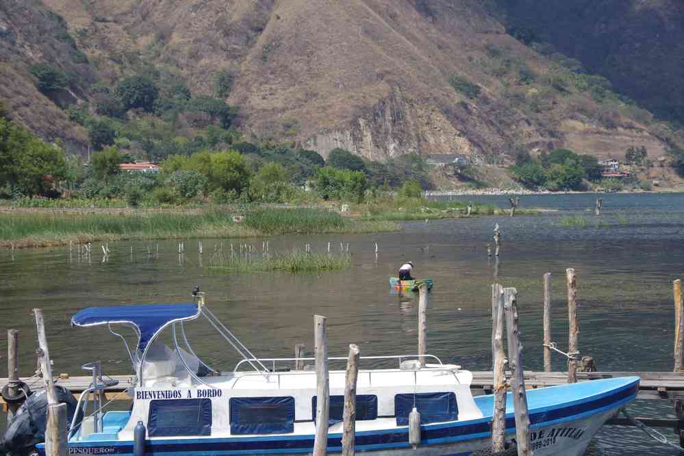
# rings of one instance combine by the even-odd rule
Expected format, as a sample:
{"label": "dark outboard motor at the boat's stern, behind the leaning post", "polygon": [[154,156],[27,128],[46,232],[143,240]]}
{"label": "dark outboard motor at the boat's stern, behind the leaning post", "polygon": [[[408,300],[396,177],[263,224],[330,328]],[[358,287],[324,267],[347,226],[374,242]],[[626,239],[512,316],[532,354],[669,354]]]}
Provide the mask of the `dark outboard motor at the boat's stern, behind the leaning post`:
{"label": "dark outboard motor at the boat's stern, behind the leaning post", "polygon": [[[76,398],[63,386],[55,385],[55,392],[57,400],[66,403],[66,420],[71,423],[76,411]],[[45,390],[40,390],[29,396],[8,423],[5,437],[0,439],[0,453],[5,452],[12,456],[29,455],[35,450],[36,444],[45,442],[46,425],[47,394]]]}

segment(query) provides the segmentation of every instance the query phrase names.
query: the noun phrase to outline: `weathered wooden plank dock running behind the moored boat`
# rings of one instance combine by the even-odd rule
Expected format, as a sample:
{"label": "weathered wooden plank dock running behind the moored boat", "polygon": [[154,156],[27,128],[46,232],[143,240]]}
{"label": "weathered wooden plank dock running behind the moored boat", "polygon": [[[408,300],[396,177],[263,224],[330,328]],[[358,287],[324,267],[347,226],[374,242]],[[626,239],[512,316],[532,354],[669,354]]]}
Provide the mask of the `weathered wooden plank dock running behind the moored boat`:
{"label": "weathered wooden plank dock running behind the moored boat", "polygon": [[[509,372],[507,372],[509,373]],[[639,399],[684,399],[684,373],[679,372],[577,372],[579,381],[589,381],[598,379],[611,379],[613,377],[641,377],[639,385]],[[129,399],[125,392],[132,386],[132,375],[110,375],[112,379],[118,381],[117,385],[105,388],[107,398],[110,400],[118,396],[122,400]],[[492,371],[472,371],[472,383],[470,388],[477,394],[491,394],[494,378]],[[525,386],[527,388],[544,388],[546,386],[565,385],[568,383],[568,372],[534,372],[524,371]],[[31,385],[31,390],[42,389],[42,381],[36,379],[22,379]],[[91,376],[86,377],[58,377],[55,385],[62,385],[73,394],[84,392],[90,382]],[[0,378],[0,388],[8,383],[8,379]],[[3,403],[0,398],[0,403]]]}

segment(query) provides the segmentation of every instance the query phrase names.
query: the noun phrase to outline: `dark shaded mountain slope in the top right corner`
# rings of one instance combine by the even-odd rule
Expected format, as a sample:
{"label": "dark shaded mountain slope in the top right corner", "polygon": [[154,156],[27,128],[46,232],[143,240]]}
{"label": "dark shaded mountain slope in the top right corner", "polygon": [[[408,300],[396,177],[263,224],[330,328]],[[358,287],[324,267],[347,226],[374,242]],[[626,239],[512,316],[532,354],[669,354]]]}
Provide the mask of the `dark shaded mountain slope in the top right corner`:
{"label": "dark shaded mountain slope in the top right corner", "polygon": [[657,114],[684,122],[684,2],[500,0],[509,27],[579,59]]}

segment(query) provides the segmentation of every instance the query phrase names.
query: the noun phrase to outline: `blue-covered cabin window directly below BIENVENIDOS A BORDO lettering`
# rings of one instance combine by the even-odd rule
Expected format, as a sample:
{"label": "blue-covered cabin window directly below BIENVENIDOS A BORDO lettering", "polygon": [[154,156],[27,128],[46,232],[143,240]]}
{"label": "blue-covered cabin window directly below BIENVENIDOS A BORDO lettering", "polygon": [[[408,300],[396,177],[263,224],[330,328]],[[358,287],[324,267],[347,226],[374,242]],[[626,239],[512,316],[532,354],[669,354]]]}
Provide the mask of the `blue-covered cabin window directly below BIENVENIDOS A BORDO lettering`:
{"label": "blue-covered cabin window directly below BIENVENIDOS A BORDO lettering", "polygon": [[150,401],[147,420],[150,437],[212,435],[211,399]]}

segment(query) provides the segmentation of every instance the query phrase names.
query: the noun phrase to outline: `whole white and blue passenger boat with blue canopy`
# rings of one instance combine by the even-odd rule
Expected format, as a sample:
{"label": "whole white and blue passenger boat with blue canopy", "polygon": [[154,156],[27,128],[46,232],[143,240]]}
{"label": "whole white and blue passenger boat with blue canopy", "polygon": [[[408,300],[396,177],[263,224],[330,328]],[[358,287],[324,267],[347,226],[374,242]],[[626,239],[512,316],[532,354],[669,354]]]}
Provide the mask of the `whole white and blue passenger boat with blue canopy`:
{"label": "whole white and blue passenger boat with blue canopy", "polygon": [[[195,355],[184,325],[198,318],[205,318],[242,356],[233,370],[217,370]],[[294,358],[255,357],[205,307],[201,296],[197,303],[90,307],[71,321],[77,327],[103,325],[115,335],[119,334],[112,328],[125,325],[136,332],[138,343],[132,349],[126,345],[135,372],[129,389],[134,399],[132,409],[102,413],[96,403],[97,413],[88,416],[88,396],[103,388],[96,379],[79,398],[78,408],[86,413],[75,416],[87,418],[74,418],[68,454],[312,453],[316,372],[294,369],[298,361]],[[173,344],[160,341],[164,330],[170,331]],[[431,364],[421,366],[417,355],[362,357],[357,381],[357,452],[465,456],[490,448],[493,396],[473,397],[471,372],[443,364],[434,356],[427,358]],[[377,367],[392,362],[396,367]],[[377,368],[366,369],[363,364]],[[344,377],[344,370],[331,370],[329,374],[329,453],[341,451]],[[638,377],[624,377],[529,390],[535,455],[583,455],[604,422],[637,396],[638,386]],[[408,415],[414,405],[421,414],[420,444],[415,447],[409,444],[408,430]],[[514,440],[510,394],[506,424],[507,438]],[[136,427],[138,451],[134,453]],[[38,453],[45,454],[42,444]]]}

